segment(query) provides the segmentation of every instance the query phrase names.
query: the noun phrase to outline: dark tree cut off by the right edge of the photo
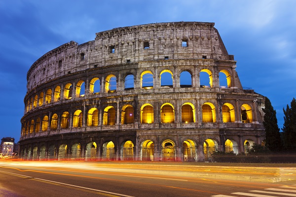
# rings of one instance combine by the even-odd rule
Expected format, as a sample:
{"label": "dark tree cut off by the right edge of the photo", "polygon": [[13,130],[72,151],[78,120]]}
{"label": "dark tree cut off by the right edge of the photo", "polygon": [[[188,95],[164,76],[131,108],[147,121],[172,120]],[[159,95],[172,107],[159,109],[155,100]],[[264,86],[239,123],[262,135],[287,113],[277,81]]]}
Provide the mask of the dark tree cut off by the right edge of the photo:
{"label": "dark tree cut off by the right edge of the photo", "polygon": [[296,150],[296,99],[291,101],[291,108],[287,104],[284,110],[284,147],[287,150]]}

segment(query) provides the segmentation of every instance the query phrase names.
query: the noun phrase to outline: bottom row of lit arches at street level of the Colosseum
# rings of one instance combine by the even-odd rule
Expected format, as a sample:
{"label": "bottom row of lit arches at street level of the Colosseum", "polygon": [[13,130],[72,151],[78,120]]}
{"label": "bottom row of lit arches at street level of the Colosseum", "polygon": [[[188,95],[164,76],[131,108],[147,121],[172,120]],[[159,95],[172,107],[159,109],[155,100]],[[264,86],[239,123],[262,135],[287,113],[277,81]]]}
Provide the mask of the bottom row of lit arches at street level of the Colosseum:
{"label": "bottom row of lit arches at street level of the Colosseum", "polygon": [[[252,139],[244,141],[244,151],[248,150],[254,145]],[[202,150],[199,150],[199,149]],[[225,151],[239,153],[240,147],[238,142],[234,139],[226,139],[222,150],[215,139],[208,138],[203,144],[199,145],[192,139],[185,139],[182,143],[182,154],[178,154],[176,142],[171,139],[166,139],[161,142],[161,155],[155,154],[156,146],[151,139],[144,140],[139,149],[136,150],[134,143],[131,140],[124,141],[119,147],[115,146],[113,141],[107,141],[102,145],[94,141],[89,141],[84,147],[75,142],[73,144],[62,143],[58,147],[50,144],[48,147],[41,145],[40,147],[28,146],[22,150],[22,158],[27,159],[102,159],[102,160],[140,160],[140,161],[198,161],[200,158],[208,161],[211,159],[213,153],[217,151]],[[138,158],[136,158],[136,151],[138,151]],[[199,156],[202,154],[202,157]],[[182,157],[182,158],[181,158]]]}

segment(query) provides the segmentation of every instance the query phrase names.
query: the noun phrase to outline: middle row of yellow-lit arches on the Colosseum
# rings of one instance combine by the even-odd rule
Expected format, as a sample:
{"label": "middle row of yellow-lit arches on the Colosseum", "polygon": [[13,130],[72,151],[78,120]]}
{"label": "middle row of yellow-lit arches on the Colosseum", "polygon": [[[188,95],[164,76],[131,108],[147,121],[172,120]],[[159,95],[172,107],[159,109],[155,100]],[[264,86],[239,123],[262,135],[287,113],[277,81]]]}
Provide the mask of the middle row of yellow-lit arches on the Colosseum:
{"label": "middle row of yellow-lit arches on the Colosseum", "polygon": [[[215,123],[216,107],[211,102],[205,102],[201,106],[201,121],[203,123]],[[240,113],[240,119],[237,120],[235,113]],[[154,107],[150,103],[143,104],[140,108],[140,123],[151,124],[154,123],[154,116],[158,115],[154,113]],[[190,102],[185,102],[181,107],[181,122],[182,123],[196,123],[198,122],[197,112],[195,106]],[[199,115],[200,116],[200,115]],[[87,111],[87,114],[83,115],[82,110],[75,110],[73,114],[69,111],[65,111],[62,114],[53,113],[51,117],[44,115],[42,119],[32,119],[25,121],[22,124],[22,136],[29,133],[37,133],[39,131],[68,129],[68,128],[80,128],[83,126],[97,127],[99,125],[116,125],[117,112],[114,106],[107,106],[103,113],[100,113],[98,108],[92,107]],[[171,103],[164,103],[160,107],[160,123],[175,123],[175,108]],[[83,123],[85,119],[85,123]],[[126,104],[121,109],[120,124],[134,124],[135,123],[135,111],[134,107],[130,104]],[[224,103],[222,105],[222,122],[234,123],[235,121],[241,121],[242,123],[252,123],[253,114],[252,108],[249,104],[243,104],[240,107],[240,111],[235,112],[235,108],[231,103]]]}

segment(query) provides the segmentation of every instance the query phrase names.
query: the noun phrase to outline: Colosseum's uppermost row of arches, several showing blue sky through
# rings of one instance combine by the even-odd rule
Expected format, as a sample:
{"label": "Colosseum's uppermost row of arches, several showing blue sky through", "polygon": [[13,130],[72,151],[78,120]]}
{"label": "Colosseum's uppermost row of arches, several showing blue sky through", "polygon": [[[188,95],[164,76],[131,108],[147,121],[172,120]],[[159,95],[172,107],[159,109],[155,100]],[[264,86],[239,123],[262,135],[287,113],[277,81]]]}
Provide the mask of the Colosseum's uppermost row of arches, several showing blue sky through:
{"label": "Colosseum's uppermost row of arches, several showing blue sky through", "polygon": [[[180,87],[192,87],[195,84],[195,78],[192,77],[192,71],[187,69],[180,73]],[[169,69],[162,70],[159,75],[160,86],[174,87],[173,72]],[[200,70],[200,87],[208,88],[213,87],[213,72],[210,69]],[[231,87],[231,75],[226,69],[222,69],[219,74],[220,87]],[[104,81],[104,78],[101,78]],[[117,77],[114,74],[110,74],[105,79],[105,86],[101,83],[98,77],[94,77],[90,80],[88,85],[85,81],[79,80],[75,83],[67,83],[63,85],[57,85],[54,88],[49,88],[45,91],[41,91],[39,94],[34,95],[26,101],[26,112],[52,102],[57,102],[60,99],[72,99],[84,97],[85,94],[99,94],[100,92],[112,93],[118,88]],[[155,83],[154,75],[152,71],[143,71],[140,75],[140,88],[151,89]],[[133,74],[128,73],[124,77],[124,90],[131,90],[135,87],[135,77]]]}

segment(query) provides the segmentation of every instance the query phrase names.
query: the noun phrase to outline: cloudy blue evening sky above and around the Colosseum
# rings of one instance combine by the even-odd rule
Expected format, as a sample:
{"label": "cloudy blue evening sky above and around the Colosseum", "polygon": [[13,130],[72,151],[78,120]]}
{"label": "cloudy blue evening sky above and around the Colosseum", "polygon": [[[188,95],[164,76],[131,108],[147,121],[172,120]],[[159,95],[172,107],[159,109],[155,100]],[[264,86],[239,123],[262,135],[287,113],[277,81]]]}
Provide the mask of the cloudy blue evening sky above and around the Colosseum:
{"label": "cloudy blue evening sky above and around the Colosseum", "polygon": [[95,33],[161,22],[214,22],[244,87],[268,97],[283,127],[296,97],[296,0],[1,0],[0,138],[20,138],[26,76],[46,52]]}

